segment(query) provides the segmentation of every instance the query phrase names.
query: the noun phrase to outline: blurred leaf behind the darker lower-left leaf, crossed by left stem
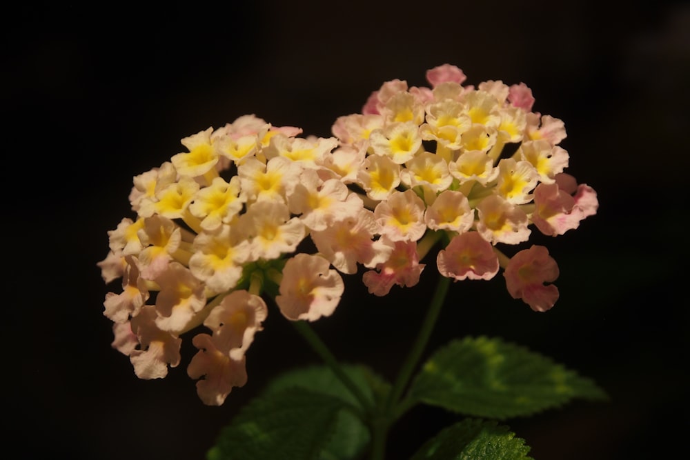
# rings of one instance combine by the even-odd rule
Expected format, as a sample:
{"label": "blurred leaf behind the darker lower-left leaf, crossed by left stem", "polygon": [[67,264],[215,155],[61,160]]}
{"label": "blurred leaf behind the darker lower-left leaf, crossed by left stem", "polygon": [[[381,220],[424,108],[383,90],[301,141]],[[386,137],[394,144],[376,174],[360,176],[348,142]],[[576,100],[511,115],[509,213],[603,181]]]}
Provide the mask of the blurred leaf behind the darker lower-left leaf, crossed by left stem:
{"label": "blurred leaf behind the darker lower-left leaf, crossed by left stem", "polygon": [[[380,389],[388,386],[383,379],[364,366],[344,365],[342,369],[371,403],[374,403]],[[328,394],[362,408],[357,398],[327,366],[311,366],[285,372],[270,381],[264,394],[295,387]],[[338,414],[333,437],[326,444],[320,458],[322,460],[354,459],[364,450],[370,439],[368,427],[351,412],[343,410]]]}

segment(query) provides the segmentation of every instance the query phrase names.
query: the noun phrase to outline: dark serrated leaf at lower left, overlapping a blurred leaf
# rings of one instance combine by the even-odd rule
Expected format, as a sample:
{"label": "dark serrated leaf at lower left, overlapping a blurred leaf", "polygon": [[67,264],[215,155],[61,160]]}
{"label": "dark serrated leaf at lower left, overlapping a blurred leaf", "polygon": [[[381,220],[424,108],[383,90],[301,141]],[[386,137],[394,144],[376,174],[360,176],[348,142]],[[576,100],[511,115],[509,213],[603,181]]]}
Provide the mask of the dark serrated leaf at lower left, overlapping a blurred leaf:
{"label": "dark serrated leaf at lower left, overlapping a blurred leaf", "polygon": [[319,459],[345,406],[304,388],[257,397],[221,430],[207,459]]}

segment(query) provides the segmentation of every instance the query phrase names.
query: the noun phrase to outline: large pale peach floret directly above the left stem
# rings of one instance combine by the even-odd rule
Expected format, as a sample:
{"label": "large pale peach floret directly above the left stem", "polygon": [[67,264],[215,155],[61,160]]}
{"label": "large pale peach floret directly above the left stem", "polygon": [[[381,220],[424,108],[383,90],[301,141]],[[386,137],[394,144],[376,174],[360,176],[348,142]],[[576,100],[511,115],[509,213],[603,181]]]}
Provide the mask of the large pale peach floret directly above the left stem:
{"label": "large pale peach floret directly above the left stem", "polygon": [[333,314],[345,285],[330,266],[323,257],[304,253],[285,263],[275,302],[287,319],[316,321]]}

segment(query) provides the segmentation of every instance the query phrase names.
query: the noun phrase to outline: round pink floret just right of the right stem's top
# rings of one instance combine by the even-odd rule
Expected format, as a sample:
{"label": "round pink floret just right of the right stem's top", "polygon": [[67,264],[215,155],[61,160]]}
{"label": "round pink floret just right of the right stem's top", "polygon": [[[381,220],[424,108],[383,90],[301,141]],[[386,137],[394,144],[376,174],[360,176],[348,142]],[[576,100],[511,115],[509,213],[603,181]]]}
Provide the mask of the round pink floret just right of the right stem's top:
{"label": "round pink floret just right of the right stem's top", "polygon": [[440,250],[436,263],[444,277],[462,279],[491,279],[498,272],[498,257],[493,247],[477,232],[466,232],[453,237],[444,250]]}

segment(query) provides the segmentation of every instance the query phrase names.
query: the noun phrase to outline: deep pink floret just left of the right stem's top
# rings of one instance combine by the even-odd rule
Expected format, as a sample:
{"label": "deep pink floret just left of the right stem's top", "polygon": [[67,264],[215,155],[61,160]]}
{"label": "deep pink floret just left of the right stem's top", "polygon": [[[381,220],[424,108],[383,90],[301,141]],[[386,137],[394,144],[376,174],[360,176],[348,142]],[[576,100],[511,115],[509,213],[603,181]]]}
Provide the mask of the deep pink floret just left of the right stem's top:
{"label": "deep pink floret just left of the right stem's top", "polygon": [[395,241],[395,248],[391,257],[384,263],[379,263],[376,270],[364,273],[362,281],[370,294],[384,296],[391,291],[393,285],[411,288],[420,282],[420,275],[424,270],[424,263],[420,263],[415,241]]}

